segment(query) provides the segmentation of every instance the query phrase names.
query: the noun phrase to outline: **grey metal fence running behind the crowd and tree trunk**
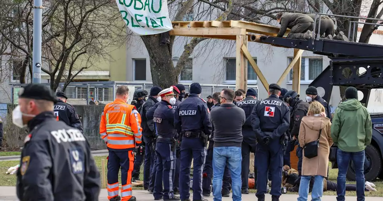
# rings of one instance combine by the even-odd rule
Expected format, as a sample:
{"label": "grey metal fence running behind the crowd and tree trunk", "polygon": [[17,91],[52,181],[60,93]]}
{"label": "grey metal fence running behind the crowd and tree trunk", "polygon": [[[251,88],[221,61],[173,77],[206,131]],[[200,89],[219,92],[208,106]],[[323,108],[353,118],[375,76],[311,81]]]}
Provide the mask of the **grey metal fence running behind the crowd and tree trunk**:
{"label": "grey metal fence running behind the crowd and tree trunk", "polygon": [[[49,83],[43,83],[49,87]],[[191,83],[182,83],[185,86],[186,93],[189,92]],[[27,84],[14,84],[12,87],[12,102],[18,104],[18,92],[21,87]],[[61,91],[63,83],[59,84],[57,91]],[[137,89],[144,89],[150,93],[153,87],[151,82],[72,82],[65,89],[65,94],[68,97],[67,102],[71,105],[94,105],[106,104],[112,102],[116,97],[116,88],[126,85],[129,88],[129,102],[133,99],[133,92]],[[248,88],[254,88],[258,92],[257,85],[248,85]],[[201,84],[201,98],[206,100],[208,95],[213,95],[215,92],[221,92],[224,88],[235,90],[235,85],[209,85]]]}

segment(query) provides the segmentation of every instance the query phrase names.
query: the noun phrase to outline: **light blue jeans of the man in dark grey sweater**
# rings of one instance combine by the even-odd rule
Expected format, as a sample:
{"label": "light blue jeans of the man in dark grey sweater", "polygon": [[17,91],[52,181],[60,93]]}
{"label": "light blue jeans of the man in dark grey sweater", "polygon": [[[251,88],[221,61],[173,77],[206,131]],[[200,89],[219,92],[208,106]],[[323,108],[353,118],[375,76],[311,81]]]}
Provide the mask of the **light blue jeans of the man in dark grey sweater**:
{"label": "light blue jeans of the man in dark grey sweater", "polygon": [[222,201],[222,178],[226,163],[231,172],[231,188],[233,201],[241,201],[241,147],[214,147],[213,148],[213,200]]}

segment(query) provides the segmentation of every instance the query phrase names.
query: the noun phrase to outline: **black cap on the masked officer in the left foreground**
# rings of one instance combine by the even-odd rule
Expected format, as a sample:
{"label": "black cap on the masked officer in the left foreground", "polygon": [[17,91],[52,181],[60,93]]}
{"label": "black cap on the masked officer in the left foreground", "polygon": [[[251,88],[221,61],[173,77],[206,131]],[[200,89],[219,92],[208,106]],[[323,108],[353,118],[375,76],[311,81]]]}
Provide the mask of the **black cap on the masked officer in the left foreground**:
{"label": "black cap on the masked officer in the left foreground", "polygon": [[19,98],[47,100],[47,101],[52,101],[54,103],[57,102],[56,95],[53,93],[53,91],[50,88],[37,83],[31,83],[29,85],[26,85],[24,88],[20,88]]}

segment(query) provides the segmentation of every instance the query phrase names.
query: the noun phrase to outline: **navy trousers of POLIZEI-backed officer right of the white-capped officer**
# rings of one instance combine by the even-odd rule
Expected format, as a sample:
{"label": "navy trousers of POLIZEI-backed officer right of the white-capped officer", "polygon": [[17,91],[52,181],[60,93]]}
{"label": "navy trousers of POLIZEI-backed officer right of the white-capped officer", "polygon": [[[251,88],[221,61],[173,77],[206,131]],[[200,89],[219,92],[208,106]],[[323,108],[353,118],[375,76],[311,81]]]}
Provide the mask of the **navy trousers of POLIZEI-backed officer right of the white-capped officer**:
{"label": "navy trousers of POLIZEI-backed officer right of the white-capped officer", "polygon": [[193,200],[202,200],[202,171],[206,160],[206,149],[197,137],[183,137],[181,143],[180,198],[190,197],[190,166],[193,159]]}

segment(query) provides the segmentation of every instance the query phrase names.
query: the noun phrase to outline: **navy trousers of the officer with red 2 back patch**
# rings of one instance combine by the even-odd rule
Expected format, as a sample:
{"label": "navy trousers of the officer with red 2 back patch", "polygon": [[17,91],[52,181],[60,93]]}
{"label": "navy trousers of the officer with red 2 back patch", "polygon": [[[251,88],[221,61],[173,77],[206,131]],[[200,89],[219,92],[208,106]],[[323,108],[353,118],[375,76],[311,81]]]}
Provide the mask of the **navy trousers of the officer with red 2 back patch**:
{"label": "navy trousers of the officer with red 2 back patch", "polygon": [[258,198],[263,197],[267,190],[267,177],[270,170],[272,176],[270,194],[279,197],[282,183],[283,150],[280,139],[274,139],[268,145],[258,143],[256,157],[257,166],[257,193]]}

